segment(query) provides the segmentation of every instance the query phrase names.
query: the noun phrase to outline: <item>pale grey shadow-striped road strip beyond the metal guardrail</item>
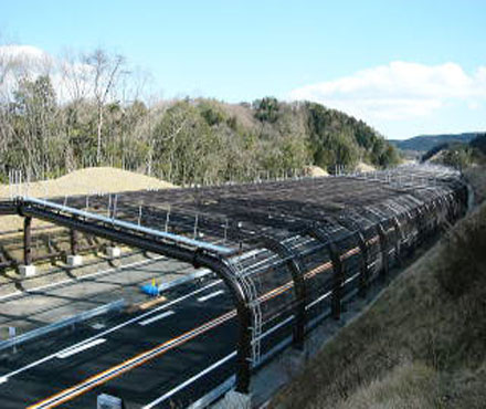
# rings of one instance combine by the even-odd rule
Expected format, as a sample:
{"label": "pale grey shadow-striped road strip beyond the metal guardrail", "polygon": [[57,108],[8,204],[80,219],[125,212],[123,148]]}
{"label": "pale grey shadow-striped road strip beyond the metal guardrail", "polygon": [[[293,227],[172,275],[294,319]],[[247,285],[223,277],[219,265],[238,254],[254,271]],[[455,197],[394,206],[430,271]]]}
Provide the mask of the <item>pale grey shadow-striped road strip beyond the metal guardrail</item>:
{"label": "pale grey shadow-striped road strip beyond the metal guardrail", "polygon": [[127,265],[66,279],[29,292],[0,296],[0,327],[14,326],[19,333],[44,326],[103,304],[124,298],[139,303],[146,298],[141,284],[156,279],[172,281],[193,270],[175,260],[142,260]]}

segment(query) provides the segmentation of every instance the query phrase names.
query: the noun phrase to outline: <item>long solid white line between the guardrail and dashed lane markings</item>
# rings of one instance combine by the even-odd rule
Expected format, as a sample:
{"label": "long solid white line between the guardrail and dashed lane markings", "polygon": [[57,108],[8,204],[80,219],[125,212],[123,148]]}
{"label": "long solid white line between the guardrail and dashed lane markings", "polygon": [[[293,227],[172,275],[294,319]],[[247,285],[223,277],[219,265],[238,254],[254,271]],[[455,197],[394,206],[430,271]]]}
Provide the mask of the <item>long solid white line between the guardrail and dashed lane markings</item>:
{"label": "long solid white line between the guardrail and dashed lane markings", "polygon": [[[124,322],[124,323],[120,323],[120,324],[118,324],[118,325],[115,325],[114,327],[108,328],[108,329],[104,331],[103,333],[99,333],[99,334],[94,335],[94,336],[92,336],[92,337],[89,337],[89,338],[86,338],[86,339],[84,339],[84,340],[82,340],[82,342],[80,342],[80,343],[77,343],[77,344],[71,345],[70,347],[64,348],[64,349],[62,349],[62,350],[59,350],[59,352],[56,352],[56,353],[54,353],[54,354],[47,355],[47,356],[45,356],[45,357],[43,357],[43,358],[41,358],[41,359],[38,359],[38,360],[33,361],[32,364],[25,365],[24,367],[21,367],[21,368],[19,368],[19,369],[12,370],[11,373],[3,375],[2,377],[8,379],[8,378],[11,378],[12,376],[15,376],[15,375],[18,375],[18,374],[24,373],[24,371],[28,370],[28,369],[34,368],[34,367],[36,367],[36,366],[39,366],[39,365],[41,365],[41,364],[44,364],[44,363],[46,363],[46,361],[49,361],[49,360],[55,358],[57,354],[60,354],[60,353],[62,353],[62,352],[64,352],[64,350],[66,350],[66,349],[70,349],[70,348],[76,348],[76,347],[78,347],[78,346],[81,346],[81,345],[84,345],[84,344],[86,344],[86,343],[91,343],[91,342],[94,340],[94,339],[98,339],[98,338],[101,338],[101,337],[103,337],[103,336],[105,336],[105,335],[107,335],[107,334],[114,333],[115,331],[118,331],[118,329],[120,329],[120,328],[123,328],[123,327],[126,327],[127,325],[130,325],[130,324],[136,323],[136,322],[138,322],[138,321],[140,321],[140,319],[144,319],[145,317],[147,317],[147,316],[149,316],[149,315],[151,315],[151,314],[154,314],[154,313],[156,313],[156,312],[158,312],[158,311],[165,310],[165,308],[167,308],[167,307],[169,307],[169,306],[171,306],[171,305],[173,305],[173,304],[180,303],[181,301],[184,301],[184,300],[191,297],[192,295],[199,294],[199,293],[201,293],[201,292],[203,292],[203,291],[205,291],[205,290],[208,290],[208,289],[210,289],[210,287],[212,287],[212,286],[214,286],[214,285],[221,284],[221,282],[222,282],[222,280],[218,280],[218,281],[215,281],[215,282],[213,282],[213,283],[211,283],[211,284],[208,284],[207,286],[204,286],[204,287],[202,287],[202,289],[196,290],[196,291],[193,291],[192,293],[186,294],[186,295],[183,295],[183,296],[181,296],[181,297],[179,297],[179,298],[176,298],[176,300],[173,300],[173,301],[171,301],[171,302],[169,302],[169,303],[167,303],[167,304],[163,304],[163,305],[161,305],[161,306],[159,306],[159,307],[157,307],[157,308],[154,308],[154,310],[151,310],[151,311],[148,311],[148,312],[145,313],[145,314],[141,314],[141,315],[139,315],[139,316],[136,316],[135,318],[131,318],[131,319],[128,319],[128,321],[126,321],[126,322]],[[2,377],[0,377],[0,379],[1,379]]]}

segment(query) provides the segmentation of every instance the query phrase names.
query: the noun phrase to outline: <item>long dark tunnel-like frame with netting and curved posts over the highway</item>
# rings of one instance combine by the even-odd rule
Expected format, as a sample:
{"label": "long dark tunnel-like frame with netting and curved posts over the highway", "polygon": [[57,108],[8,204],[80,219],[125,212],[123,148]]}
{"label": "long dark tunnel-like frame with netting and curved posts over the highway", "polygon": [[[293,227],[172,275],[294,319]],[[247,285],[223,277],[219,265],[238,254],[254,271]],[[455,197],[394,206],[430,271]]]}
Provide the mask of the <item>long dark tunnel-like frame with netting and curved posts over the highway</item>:
{"label": "long dark tunnel-like frame with netting and curved posts over the highway", "polygon": [[23,195],[2,204],[25,217],[25,263],[30,220],[39,218],[210,269],[234,298],[236,390],[246,392],[254,368],[289,344],[303,348],[316,324],[339,319],[349,297],[366,297],[373,281],[385,282],[391,268],[461,218],[467,187],[452,169],[414,166],[124,193],[116,211],[109,198],[107,213],[106,197],[84,200]]}

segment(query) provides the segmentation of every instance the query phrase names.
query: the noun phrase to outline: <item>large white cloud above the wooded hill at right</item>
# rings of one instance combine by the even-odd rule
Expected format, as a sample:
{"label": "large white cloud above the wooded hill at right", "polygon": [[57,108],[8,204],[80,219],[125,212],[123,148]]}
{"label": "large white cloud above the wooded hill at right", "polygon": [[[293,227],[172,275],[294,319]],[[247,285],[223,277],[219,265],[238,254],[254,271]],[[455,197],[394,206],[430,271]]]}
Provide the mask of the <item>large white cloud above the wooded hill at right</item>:
{"label": "large white cloud above the wooded hill at right", "polygon": [[486,101],[486,66],[467,74],[455,63],[394,61],[294,90],[288,97],[319,102],[376,125],[423,118],[455,102],[477,109]]}

